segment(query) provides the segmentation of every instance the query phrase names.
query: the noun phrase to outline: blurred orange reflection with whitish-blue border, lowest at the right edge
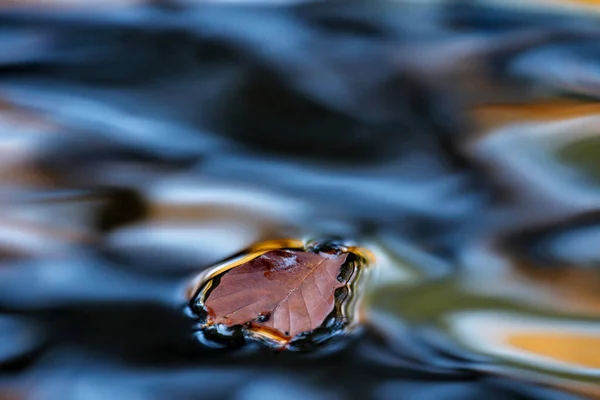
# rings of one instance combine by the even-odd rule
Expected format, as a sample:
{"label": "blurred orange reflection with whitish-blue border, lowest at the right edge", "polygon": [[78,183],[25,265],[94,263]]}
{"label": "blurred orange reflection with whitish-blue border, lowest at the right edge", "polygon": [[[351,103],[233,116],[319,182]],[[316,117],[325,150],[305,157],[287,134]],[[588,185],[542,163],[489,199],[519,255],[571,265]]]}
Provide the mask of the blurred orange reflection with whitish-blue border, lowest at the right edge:
{"label": "blurred orange reflection with whitish-blue border, lowest at the right edge", "polygon": [[600,324],[513,312],[458,312],[450,331],[476,352],[533,371],[600,378]]}

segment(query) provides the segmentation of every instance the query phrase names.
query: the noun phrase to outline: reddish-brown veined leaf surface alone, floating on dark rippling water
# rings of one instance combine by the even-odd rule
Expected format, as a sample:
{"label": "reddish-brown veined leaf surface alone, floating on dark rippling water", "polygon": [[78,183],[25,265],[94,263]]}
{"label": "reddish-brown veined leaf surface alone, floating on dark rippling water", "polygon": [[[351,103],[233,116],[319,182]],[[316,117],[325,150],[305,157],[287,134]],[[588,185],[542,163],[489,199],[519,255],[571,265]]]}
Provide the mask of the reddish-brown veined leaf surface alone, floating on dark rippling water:
{"label": "reddish-brown veined leaf surface alone, floating on dark rippling water", "polygon": [[284,338],[312,331],[335,307],[335,290],[347,282],[347,254],[270,251],[226,272],[205,300],[209,323],[250,323]]}

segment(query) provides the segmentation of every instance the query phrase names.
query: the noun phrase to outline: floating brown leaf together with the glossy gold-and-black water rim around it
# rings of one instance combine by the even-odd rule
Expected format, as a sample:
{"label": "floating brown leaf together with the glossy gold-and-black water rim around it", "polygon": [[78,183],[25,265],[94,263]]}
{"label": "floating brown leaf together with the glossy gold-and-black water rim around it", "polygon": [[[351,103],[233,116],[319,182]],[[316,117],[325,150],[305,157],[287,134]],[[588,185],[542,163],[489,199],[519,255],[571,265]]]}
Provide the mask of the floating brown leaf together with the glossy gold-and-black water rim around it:
{"label": "floating brown leaf together with the glossy gold-and-black water rim around it", "polygon": [[247,338],[277,345],[318,342],[355,324],[351,294],[361,261],[366,260],[343,246],[321,244],[274,249],[222,265],[196,296],[201,328],[229,338],[241,329]]}

